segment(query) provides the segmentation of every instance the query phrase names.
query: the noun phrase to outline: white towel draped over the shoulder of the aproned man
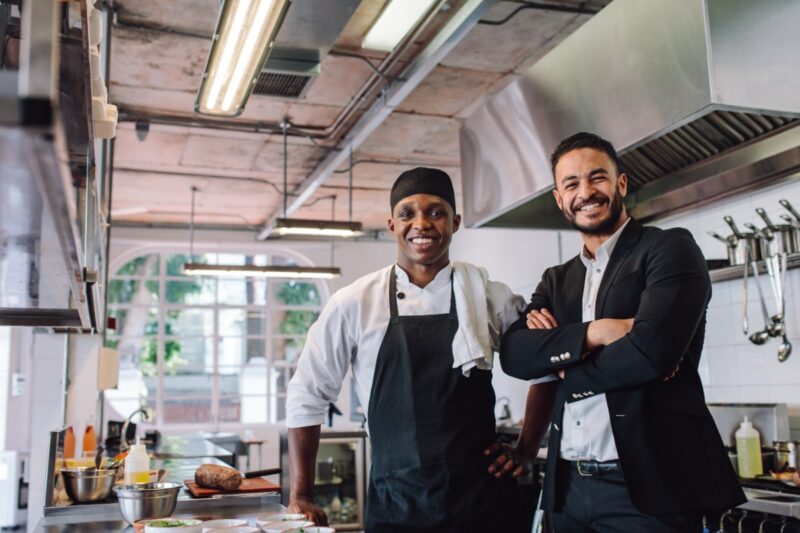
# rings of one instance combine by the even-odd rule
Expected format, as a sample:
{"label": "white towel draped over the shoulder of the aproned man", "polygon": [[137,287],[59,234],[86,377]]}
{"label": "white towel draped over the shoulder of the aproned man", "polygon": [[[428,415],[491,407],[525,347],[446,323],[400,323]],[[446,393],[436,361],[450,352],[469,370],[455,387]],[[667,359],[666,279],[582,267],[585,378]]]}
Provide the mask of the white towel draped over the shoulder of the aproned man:
{"label": "white towel draped over the shoulder of the aproned man", "polygon": [[499,335],[500,332],[490,330],[486,295],[489,275],[486,269],[461,261],[452,261],[451,264],[458,313],[458,330],[453,339],[453,368],[461,367],[464,375],[469,376],[475,367],[492,369],[492,334]]}

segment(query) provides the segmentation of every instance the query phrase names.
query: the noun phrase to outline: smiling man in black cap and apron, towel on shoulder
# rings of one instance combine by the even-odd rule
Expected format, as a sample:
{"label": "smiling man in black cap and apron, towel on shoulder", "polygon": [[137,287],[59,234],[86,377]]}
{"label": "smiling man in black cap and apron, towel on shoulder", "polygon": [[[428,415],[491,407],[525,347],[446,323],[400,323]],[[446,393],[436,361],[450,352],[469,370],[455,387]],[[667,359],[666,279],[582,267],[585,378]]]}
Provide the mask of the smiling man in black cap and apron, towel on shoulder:
{"label": "smiling man in black cap and apron, towel on shoulder", "polygon": [[331,296],[289,384],[289,511],[327,522],[313,500],[320,424],[352,367],[372,446],[367,533],[530,531],[521,468],[493,457],[491,382],[493,350],[524,301],[450,261],[461,217],[445,172],[402,173],[390,205],[396,263]]}

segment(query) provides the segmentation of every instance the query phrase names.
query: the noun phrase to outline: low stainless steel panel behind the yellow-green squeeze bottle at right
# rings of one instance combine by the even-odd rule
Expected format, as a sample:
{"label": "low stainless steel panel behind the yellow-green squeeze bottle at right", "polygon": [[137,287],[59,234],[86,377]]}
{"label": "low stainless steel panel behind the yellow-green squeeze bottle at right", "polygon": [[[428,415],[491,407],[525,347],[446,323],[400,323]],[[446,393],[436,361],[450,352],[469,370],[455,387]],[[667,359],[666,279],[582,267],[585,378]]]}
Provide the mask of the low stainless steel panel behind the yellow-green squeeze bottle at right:
{"label": "low stainless steel panel behind the yellow-green squeeze bottle at right", "polygon": [[722,442],[728,447],[736,447],[734,434],[745,416],[758,430],[762,443],[789,440],[789,416],[785,403],[710,403],[708,409]]}

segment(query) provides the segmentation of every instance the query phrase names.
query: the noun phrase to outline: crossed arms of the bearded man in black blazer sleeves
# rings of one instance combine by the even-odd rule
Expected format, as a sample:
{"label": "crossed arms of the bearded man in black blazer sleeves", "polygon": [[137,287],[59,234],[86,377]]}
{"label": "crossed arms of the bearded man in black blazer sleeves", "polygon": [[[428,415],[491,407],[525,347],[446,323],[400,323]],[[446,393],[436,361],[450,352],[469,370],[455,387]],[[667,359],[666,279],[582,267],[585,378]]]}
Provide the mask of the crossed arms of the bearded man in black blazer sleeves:
{"label": "crossed arms of the bearded man in black blazer sleeves", "polygon": [[[561,325],[549,312],[556,295],[546,273],[526,310],[536,329],[528,329],[527,316],[509,329],[500,351],[504,370],[521,379],[563,371],[567,393],[602,393],[673,374],[703,320],[710,280],[685,230],[664,232],[647,254],[634,317]],[[552,359],[560,353],[571,357]]]}

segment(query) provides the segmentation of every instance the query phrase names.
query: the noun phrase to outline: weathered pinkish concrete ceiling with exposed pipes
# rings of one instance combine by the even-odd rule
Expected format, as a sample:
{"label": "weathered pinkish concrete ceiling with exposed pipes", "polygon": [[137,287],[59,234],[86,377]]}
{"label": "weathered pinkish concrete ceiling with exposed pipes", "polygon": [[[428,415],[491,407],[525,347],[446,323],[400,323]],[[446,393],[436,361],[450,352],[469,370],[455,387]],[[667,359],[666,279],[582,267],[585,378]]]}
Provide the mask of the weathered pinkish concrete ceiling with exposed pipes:
{"label": "weathered pinkish concrete ceiling with exposed pipes", "polygon": [[[399,57],[397,73],[435,38],[464,0],[445,2]],[[606,0],[547,4],[597,11]],[[114,224],[186,225],[191,188],[197,187],[199,226],[257,232],[283,212],[283,137],[277,124],[288,117],[287,180],[300,191],[331,149],[380,98],[373,69],[385,54],[363,50],[360,41],[384,0],[362,0],[321,63],[321,72],[300,99],[252,96],[236,119],[209,120],[193,113],[194,99],[214,31],[219,0],[116,0],[111,31],[109,100],[120,109],[114,146]],[[524,2],[499,1],[481,20],[499,21]],[[538,3],[541,6],[541,3]],[[573,9],[574,8],[574,9]],[[574,32],[591,14],[529,6],[502,25],[476,24],[402,103],[355,149],[353,218],[371,229],[386,226],[389,189],[412,166],[443,168],[460,194],[458,130],[485,98],[511,83],[539,57]],[[279,35],[280,37],[280,35]],[[354,58],[342,54],[358,54]],[[333,124],[366,84],[373,90],[333,135]],[[137,137],[135,121],[149,132]],[[307,136],[299,134],[305,132]],[[348,164],[327,177],[292,217],[348,218]],[[291,197],[289,198],[291,202]]]}

